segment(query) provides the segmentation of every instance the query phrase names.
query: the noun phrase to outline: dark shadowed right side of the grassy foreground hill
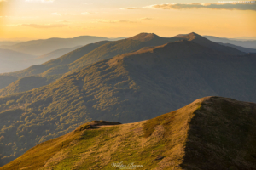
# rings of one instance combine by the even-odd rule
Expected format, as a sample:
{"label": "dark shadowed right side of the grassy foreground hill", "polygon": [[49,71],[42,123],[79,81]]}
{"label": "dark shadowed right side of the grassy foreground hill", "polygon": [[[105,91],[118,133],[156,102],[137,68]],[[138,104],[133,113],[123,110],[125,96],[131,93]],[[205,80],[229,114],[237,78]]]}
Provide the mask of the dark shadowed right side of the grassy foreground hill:
{"label": "dark shadowed right side of the grassy foreground hill", "polygon": [[183,169],[256,169],[256,105],[212,97],[189,123]]}

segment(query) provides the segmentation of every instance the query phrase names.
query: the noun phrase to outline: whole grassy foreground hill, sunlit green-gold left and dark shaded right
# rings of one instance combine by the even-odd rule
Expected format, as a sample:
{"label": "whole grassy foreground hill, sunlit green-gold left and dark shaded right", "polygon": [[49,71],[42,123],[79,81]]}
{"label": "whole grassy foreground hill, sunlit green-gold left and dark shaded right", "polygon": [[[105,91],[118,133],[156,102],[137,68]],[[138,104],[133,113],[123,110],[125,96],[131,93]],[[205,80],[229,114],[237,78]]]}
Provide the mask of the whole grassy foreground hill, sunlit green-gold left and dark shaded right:
{"label": "whole grassy foreground hill, sunlit green-gold left and dark shaded right", "polygon": [[206,97],[143,122],[85,123],[0,169],[249,170],[255,130],[256,104]]}

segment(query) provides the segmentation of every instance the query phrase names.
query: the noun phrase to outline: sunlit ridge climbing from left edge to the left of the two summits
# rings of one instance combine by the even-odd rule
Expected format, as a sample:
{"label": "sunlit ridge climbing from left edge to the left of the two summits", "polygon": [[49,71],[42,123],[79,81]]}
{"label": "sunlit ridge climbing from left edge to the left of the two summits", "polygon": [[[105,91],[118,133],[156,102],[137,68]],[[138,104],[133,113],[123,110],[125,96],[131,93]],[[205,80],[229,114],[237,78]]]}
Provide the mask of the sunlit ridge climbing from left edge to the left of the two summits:
{"label": "sunlit ridge climbing from left edge to the left of the two summits", "polygon": [[[43,65],[33,65],[22,71],[15,71],[4,75],[0,75],[0,80],[5,82],[6,76],[13,77],[13,80],[17,80],[18,78],[22,79],[23,77],[29,76],[52,77],[53,75],[55,75],[55,77],[58,78],[61,75],[68,73],[69,71],[77,71],[80,69],[80,67],[86,67],[102,59],[112,58],[118,54],[129,53],[131,51],[136,51],[140,48],[148,46],[163,45],[167,42],[174,42],[177,40],[179,39],[164,38],[158,37],[154,34],[142,33],[135,37],[115,42],[102,41],[90,43],[82,48],[73,50],[68,54],[64,54],[58,59],[49,60]],[[17,84],[17,82],[15,83]],[[7,86],[9,85],[9,87],[7,87],[5,84],[7,84]],[[44,85],[45,84],[42,84],[42,86]],[[19,89],[28,89],[29,87],[31,87],[30,89],[32,89],[32,86],[30,86],[28,82],[26,87]],[[22,92],[17,89],[13,89],[14,86],[12,86],[10,83],[4,83],[3,86],[1,86],[0,84],[0,89],[1,88],[5,88],[4,93],[2,90],[1,94],[9,94],[6,93],[6,91]]]}

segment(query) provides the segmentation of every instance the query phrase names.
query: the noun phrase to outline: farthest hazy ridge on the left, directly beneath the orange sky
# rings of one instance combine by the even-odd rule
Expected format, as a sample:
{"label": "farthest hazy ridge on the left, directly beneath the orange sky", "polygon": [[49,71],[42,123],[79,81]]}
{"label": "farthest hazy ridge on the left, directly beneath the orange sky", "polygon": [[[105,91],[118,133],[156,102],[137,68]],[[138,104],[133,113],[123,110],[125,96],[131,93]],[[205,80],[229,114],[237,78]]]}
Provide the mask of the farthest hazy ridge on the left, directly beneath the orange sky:
{"label": "farthest hazy ridge on the left, directly beneath the orange sky", "polygon": [[41,56],[44,54],[49,54],[52,51],[61,48],[74,48],[77,46],[84,46],[89,43],[99,42],[103,40],[116,41],[120,38],[109,39],[107,37],[93,37],[93,36],[80,36],[73,38],[49,38],[32,40],[28,42],[20,42],[11,46],[4,46],[5,48],[15,50],[20,53],[32,54],[36,56]]}

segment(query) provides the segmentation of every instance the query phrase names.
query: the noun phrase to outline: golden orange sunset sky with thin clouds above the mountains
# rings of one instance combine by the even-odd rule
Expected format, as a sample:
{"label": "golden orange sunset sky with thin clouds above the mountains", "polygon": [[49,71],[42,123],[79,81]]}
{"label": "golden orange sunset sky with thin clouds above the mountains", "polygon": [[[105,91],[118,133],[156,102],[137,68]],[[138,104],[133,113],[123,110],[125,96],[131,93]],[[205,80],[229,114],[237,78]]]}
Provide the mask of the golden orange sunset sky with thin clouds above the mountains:
{"label": "golden orange sunset sky with thin clouds above the mountains", "polygon": [[214,0],[0,0],[0,40],[161,37],[196,32],[256,37],[256,3]]}

